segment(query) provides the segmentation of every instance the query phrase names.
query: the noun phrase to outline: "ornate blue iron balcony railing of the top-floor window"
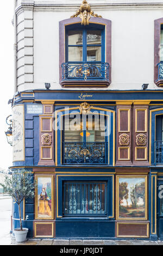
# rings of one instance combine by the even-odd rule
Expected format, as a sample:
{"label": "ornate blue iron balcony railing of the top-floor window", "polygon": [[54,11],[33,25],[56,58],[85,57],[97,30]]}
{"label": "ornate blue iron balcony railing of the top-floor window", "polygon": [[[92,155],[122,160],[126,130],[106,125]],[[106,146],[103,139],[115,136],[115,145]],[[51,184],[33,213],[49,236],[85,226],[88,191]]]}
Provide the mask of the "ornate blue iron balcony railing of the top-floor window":
{"label": "ornate blue iron balcony railing of the top-floor window", "polygon": [[74,62],[62,63],[62,81],[105,80],[109,81],[109,63]]}

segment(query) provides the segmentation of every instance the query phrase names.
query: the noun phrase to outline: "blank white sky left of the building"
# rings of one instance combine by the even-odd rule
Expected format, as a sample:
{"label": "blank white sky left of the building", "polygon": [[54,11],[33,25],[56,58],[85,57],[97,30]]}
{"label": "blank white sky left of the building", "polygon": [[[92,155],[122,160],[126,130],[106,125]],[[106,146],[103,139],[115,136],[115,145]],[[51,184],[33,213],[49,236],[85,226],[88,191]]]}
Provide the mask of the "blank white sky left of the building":
{"label": "blank white sky left of the building", "polygon": [[14,27],[12,26],[14,0],[1,1],[0,9],[0,168],[12,166],[12,147],[7,142],[5,131],[8,130],[6,118],[11,114],[8,100],[14,95]]}

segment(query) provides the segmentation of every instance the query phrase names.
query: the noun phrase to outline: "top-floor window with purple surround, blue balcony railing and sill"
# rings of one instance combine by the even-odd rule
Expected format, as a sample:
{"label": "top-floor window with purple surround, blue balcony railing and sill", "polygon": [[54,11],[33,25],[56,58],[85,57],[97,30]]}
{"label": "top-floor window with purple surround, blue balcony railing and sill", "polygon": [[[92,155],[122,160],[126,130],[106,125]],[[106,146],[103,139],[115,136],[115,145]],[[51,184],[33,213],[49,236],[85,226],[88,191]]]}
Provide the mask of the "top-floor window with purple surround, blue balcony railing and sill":
{"label": "top-floor window with purple surround, blue balcony railing and sill", "polygon": [[[73,19],[75,19],[74,22]],[[83,26],[79,18],[73,19],[60,22],[61,85],[64,87],[109,86],[111,22],[93,17],[89,25]]]}

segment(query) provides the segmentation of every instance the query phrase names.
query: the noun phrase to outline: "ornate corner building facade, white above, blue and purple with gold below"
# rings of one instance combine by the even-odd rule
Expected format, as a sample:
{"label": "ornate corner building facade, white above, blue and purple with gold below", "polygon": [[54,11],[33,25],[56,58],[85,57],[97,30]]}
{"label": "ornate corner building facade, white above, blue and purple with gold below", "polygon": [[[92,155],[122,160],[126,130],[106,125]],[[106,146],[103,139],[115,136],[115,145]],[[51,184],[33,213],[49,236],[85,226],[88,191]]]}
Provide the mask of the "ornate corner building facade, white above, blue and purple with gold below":
{"label": "ornate corner building facade, white above, blue and purple with gold below", "polygon": [[15,2],[10,169],[37,180],[29,237],[163,238],[162,24],[162,0]]}

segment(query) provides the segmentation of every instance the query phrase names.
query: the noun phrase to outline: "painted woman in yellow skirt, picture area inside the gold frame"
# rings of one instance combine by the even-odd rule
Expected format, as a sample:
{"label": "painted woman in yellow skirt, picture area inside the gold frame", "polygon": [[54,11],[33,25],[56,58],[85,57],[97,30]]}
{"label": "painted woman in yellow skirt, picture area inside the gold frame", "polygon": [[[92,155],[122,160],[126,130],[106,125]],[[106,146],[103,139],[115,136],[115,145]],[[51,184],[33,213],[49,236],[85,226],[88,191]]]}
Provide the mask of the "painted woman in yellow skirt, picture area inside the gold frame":
{"label": "painted woman in yellow skirt, picture area inside the gold frame", "polygon": [[37,218],[52,218],[52,178],[37,179]]}

